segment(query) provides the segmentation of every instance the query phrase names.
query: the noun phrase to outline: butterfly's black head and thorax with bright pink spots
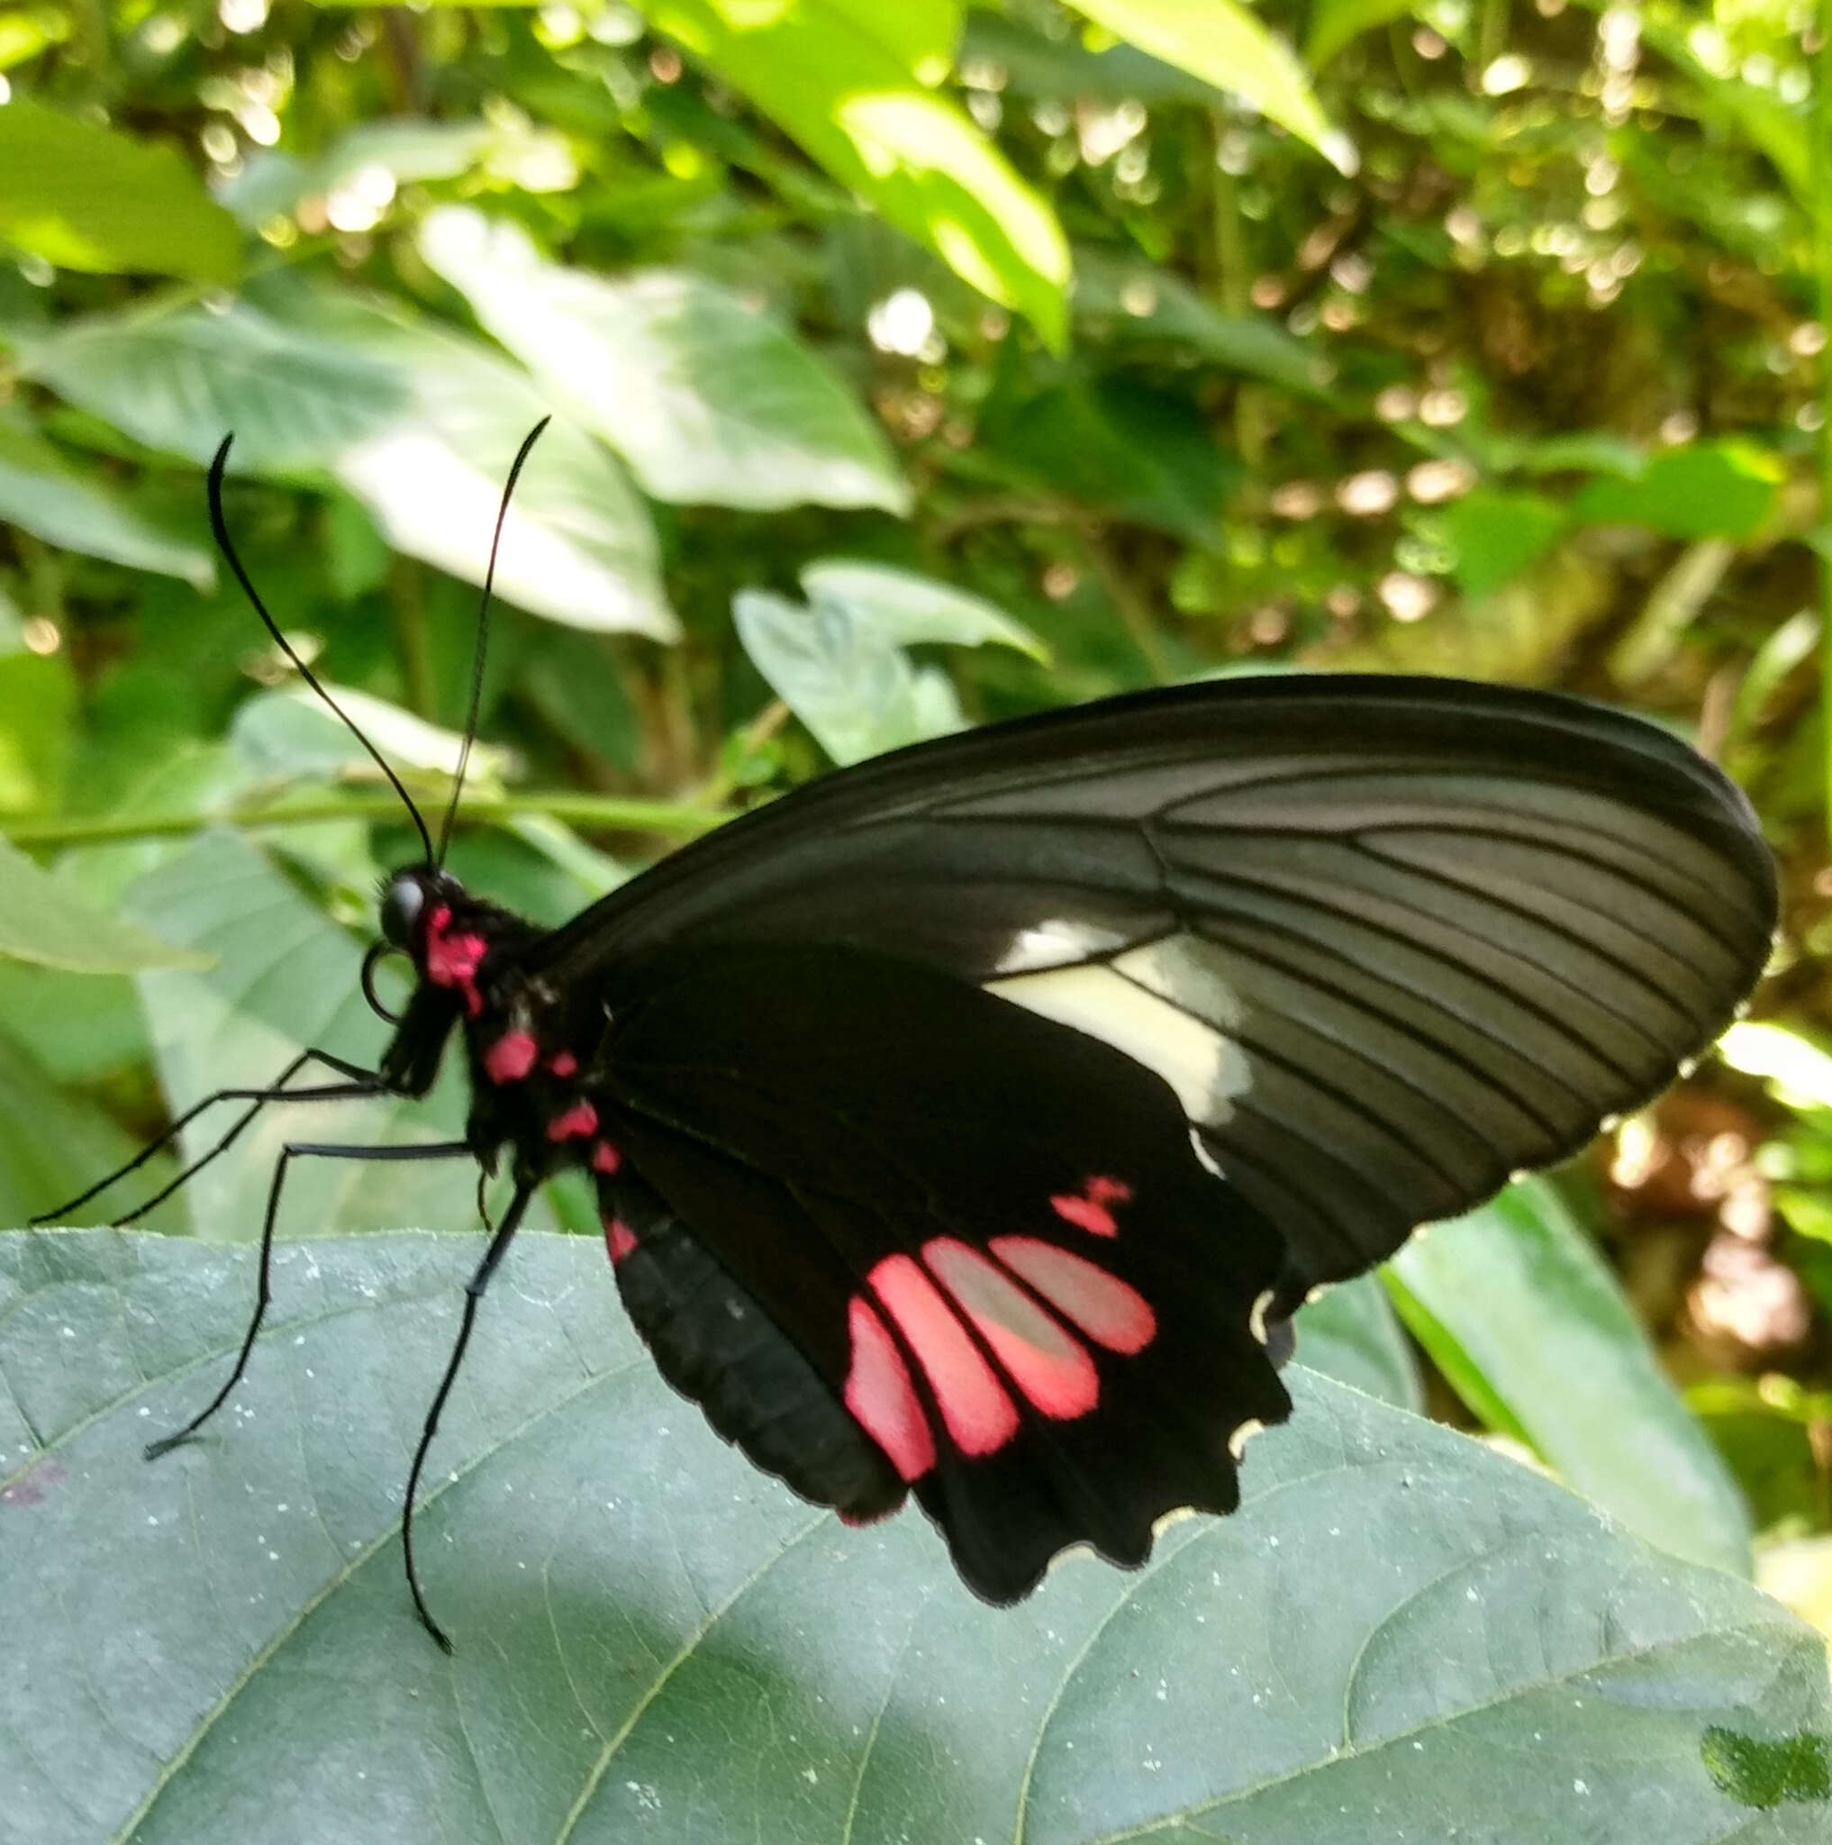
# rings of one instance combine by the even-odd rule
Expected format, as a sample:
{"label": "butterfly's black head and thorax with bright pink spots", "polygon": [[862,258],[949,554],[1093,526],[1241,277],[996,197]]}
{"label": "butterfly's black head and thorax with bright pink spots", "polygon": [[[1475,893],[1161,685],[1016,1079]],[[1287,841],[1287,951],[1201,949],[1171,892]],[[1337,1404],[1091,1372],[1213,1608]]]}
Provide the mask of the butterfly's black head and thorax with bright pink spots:
{"label": "butterfly's black head and thorax with bright pink spots", "polygon": [[[419,976],[382,1057],[391,1087],[424,1094],[456,1028],[470,1063],[465,1138],[487,1168],[511,1148],[528,1181],[565,1166],[607,1170],[616,1155],[583,1087],[592,1046],[576,1042],[572,1011],[528,972],[542,930],[426,867],[393,875],[382,926]],[[603,1018],[594,1024],[601,1033]]]}

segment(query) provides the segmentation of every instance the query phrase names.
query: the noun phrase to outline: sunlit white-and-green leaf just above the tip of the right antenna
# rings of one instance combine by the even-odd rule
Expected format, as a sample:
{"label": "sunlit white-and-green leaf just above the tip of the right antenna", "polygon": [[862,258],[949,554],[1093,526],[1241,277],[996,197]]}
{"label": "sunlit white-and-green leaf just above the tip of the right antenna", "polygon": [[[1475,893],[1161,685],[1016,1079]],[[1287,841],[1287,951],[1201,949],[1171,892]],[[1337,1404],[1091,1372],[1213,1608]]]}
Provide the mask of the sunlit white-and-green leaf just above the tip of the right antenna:
{"label": "sunlit white-and-green leaf just above the tip of the right antenna", "polygon": [[657,500],[910,509],[878,424],[769,314],[697,275],[607,280],[544,262],[517,225],[434,212],[421,255]]}

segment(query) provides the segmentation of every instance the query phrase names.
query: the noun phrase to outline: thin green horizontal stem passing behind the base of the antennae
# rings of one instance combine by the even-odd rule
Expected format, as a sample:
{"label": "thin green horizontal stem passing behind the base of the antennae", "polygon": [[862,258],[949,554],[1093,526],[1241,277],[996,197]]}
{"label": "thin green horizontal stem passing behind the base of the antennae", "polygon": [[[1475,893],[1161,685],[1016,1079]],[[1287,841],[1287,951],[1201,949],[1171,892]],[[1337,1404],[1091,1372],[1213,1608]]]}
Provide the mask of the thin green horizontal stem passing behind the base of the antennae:
{"label": "thin green horizontal stem passing behind the base of the antennae", "polygon": [[[721,827],[731,814],[675,801],[636,801],[555,788],[546,793],[465,795],[459,821],[500,825],[518,814],[544,814],[596,832],[657,832],[692,838]],[[216,814],[105,814],[85,819],[0,819],[0,838],[13,845],[111,845],[122,839],[159,839],[203,832],[207,827],[319,827],[332,819],[399,819],[400,801],[389,790],[325,795],[290,806],[232,806]]]}

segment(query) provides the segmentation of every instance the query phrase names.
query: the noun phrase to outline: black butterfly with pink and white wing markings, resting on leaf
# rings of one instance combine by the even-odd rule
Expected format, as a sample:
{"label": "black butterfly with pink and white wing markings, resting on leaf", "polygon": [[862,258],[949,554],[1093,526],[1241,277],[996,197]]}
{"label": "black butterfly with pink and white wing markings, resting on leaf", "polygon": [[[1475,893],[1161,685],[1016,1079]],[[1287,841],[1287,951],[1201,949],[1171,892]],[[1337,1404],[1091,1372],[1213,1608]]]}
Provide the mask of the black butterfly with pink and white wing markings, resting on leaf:
{"label": "black butterfly with pink and white wing markings, resting on leaf", "polygon": [[[343,1081],[286,1100],[421,1096],[456,1037],[465,1138],[280,1173],[507,1159],[408,1483],[441,1644],[411,1504],[555,1172],[596,1177],[631,1319],[725,1439],[849,1520],[913,1493],[1013,1601],[1065,1546],[1138,1565],[1166,1513],[1231,1511],[1304,1297],[1655,1096],[1775,926],[1718,769],[1450,679],[1231,679],[921,744],[553,932],[413,817],[365,965],[373,1004],[389,945],[417,976],[380,1070],[308,1052]],[[234,1375],[155,1450],[242,1375],[280,1173]]]}

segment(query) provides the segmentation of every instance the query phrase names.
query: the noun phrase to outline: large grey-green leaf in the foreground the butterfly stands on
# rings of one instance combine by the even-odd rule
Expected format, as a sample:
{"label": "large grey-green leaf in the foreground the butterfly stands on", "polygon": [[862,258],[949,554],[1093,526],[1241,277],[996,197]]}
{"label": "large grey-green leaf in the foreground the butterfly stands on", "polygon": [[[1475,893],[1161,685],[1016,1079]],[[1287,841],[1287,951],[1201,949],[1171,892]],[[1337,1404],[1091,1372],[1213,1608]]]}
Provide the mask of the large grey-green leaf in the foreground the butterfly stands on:
{"label": "large grey-green leaf in the foreground the butterfly stands on", "polygon": [[1232,1518],[989,1609],[915,1513],[849,1531],[720,1443],[585,1238],[517,1244],[445,1415],[446,1659],[399,1494],[476,1249],[282,1249],[234,1408],[148,1465],[223,1375],[249,1251],[0,1240],[22,1838],[1823,1834],[1810,1775],[1758,1771],[1828,1734],[1819,1637],[1448,1430],[1288,1373]]}

